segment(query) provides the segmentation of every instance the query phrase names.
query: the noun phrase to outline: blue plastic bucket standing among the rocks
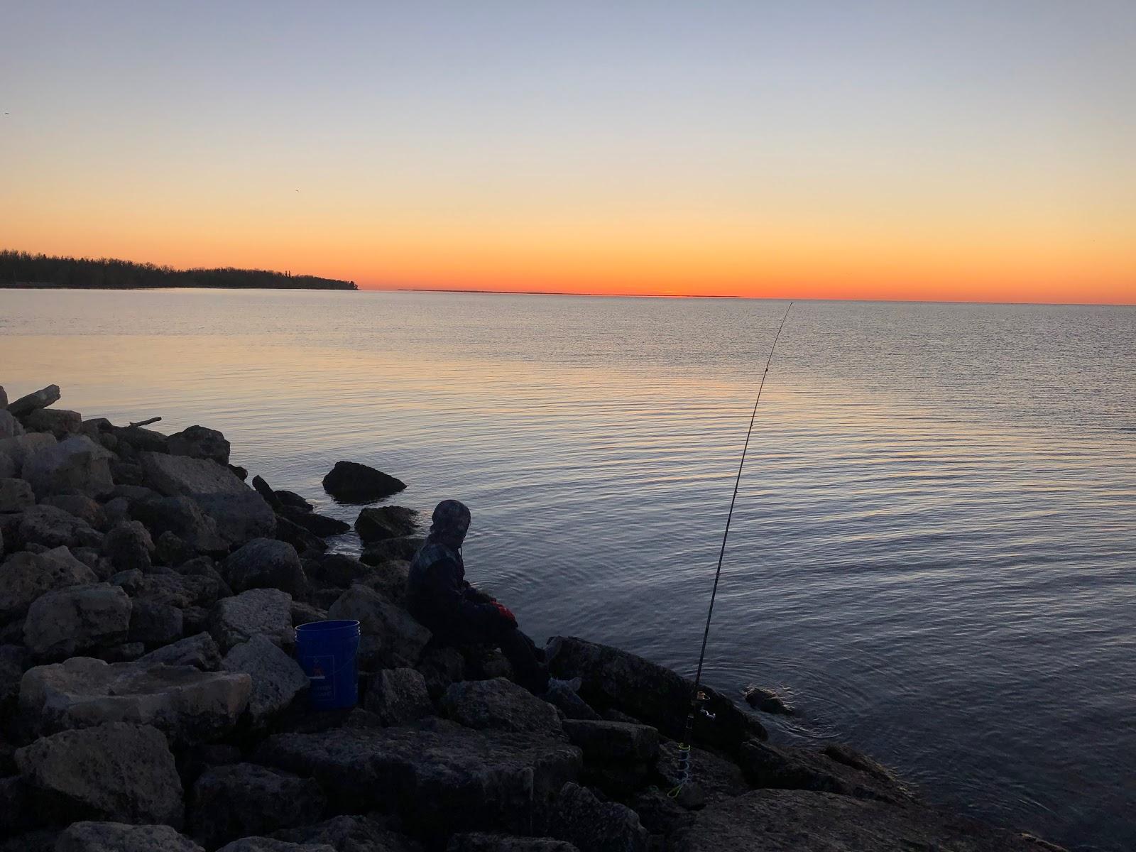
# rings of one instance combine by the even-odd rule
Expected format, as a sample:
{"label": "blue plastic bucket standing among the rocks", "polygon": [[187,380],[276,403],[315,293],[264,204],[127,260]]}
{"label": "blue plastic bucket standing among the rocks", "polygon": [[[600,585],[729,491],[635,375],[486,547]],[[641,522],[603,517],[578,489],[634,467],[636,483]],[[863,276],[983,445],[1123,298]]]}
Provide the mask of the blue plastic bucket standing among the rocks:
{"label": "blue plastic bucket standing among the rocks", "polygon": [[359,623],[310,621],[295,628],[295,659],[308,676],[308,707],[335,710],[359,701]]}

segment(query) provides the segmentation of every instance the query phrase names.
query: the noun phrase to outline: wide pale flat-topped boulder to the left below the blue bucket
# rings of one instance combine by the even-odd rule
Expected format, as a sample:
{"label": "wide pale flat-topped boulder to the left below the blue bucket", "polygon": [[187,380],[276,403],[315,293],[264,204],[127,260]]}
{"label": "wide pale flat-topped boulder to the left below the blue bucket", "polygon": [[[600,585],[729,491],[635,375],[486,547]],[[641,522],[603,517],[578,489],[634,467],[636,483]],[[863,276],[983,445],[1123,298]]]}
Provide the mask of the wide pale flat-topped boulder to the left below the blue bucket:
{"label": "wide pale flat-topped boulder to the left below the blue bucket", "polygon": [[232,730],[251,690],[251,678],[241,673],[74,657],[28,669],[19,707],[36,733],[126,721],[194,743]]}

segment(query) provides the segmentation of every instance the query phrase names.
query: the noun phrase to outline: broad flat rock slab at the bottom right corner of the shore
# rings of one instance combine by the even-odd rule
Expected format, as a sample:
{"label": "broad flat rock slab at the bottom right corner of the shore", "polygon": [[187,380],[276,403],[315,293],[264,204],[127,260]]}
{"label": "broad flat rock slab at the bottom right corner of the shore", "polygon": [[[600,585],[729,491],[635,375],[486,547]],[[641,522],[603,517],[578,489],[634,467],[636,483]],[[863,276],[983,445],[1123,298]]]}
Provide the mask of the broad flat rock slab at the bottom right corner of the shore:
{"label": "broad flat rock slab at the bottom right corner of the shore", "polygon": [[757,790],[701,811],[675,852],[1054,852],[1017,832],[924,808],[800,790]]}

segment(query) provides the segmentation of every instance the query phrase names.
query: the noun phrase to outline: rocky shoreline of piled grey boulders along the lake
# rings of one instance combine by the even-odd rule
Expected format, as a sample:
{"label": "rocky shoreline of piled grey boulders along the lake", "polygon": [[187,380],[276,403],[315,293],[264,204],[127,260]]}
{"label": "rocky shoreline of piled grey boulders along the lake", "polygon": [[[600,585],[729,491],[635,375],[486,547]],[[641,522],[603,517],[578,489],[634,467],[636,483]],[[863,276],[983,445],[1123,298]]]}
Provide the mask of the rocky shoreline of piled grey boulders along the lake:
{"label": "rocky shoreline of piled grey boulders along the lake", "polygon": [[[770,743],[712,690],[680,784],[676,673],[557,637],[584,701],[536,698],[403,609],[412,510],[361,509],[360,558],[331,553],[350,525],[247,483],[219,432],[59,398],[0,387],[0,852],[1058,849],[928,807],[847,746]],[[404,487],[346,461],[324,486]],[[325,618],[361,623],[356,708],[307,707],[294,628]]]}

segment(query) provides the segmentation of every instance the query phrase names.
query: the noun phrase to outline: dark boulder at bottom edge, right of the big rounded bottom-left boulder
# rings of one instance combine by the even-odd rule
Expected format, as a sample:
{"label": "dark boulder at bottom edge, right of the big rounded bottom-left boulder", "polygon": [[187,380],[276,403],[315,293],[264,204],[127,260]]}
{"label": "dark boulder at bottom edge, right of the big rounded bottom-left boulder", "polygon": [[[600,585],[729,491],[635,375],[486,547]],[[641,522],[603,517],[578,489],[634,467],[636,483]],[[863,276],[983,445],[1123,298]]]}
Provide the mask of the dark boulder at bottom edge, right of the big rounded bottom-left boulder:
{"label": "dark boulder at bottom edge, right of the big rounded bottom-left boulder", "polygon": [[190,834],[209,849],[249,835],[315,822],[327,799],[319,784],[251,763],[207,769],[193,785]]}

